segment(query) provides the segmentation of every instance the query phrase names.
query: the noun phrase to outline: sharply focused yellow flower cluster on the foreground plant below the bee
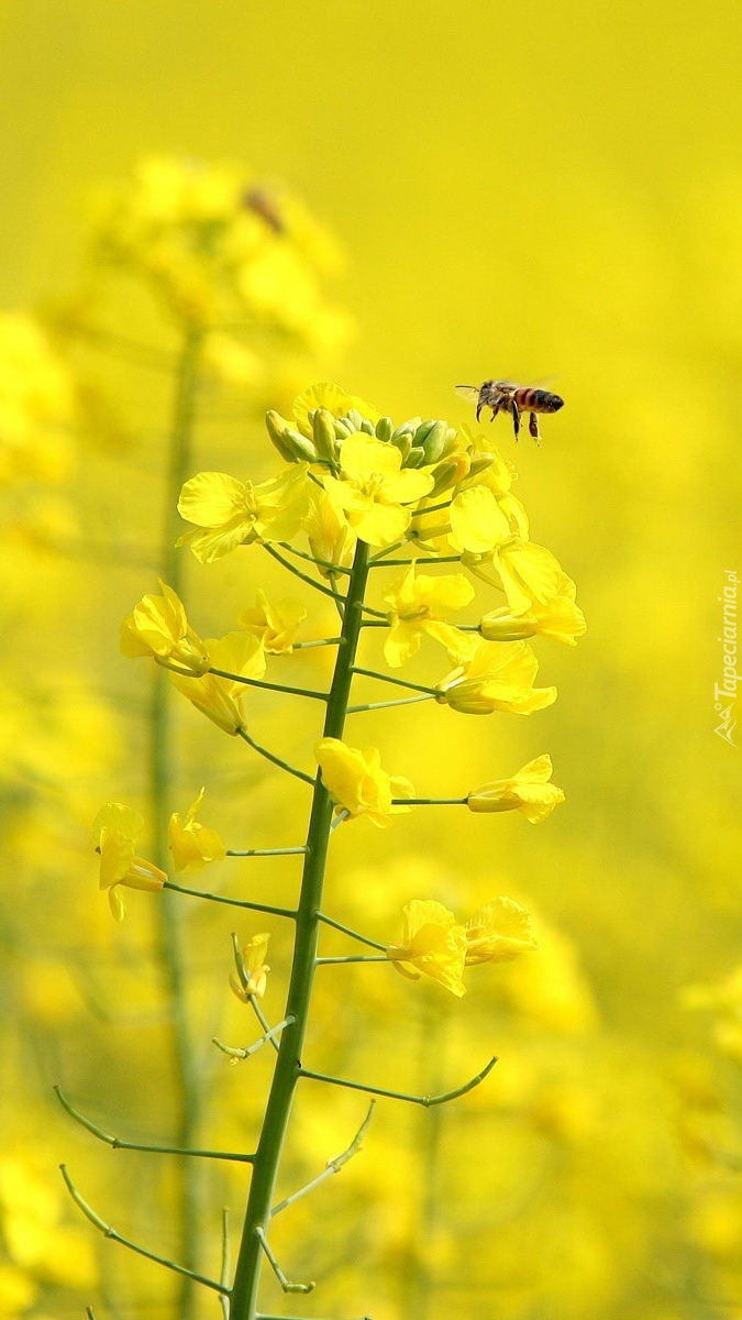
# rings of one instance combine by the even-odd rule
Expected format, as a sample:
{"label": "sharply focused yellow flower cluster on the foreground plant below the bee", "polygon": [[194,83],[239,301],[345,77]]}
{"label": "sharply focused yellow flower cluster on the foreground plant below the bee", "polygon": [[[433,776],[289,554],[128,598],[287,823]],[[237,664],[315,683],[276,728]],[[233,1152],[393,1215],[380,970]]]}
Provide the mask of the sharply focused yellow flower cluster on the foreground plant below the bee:
{"label": "sharply focused yellow flower cluster on the foreground plant below the bee", "polygon": [[[383,628],[391,671],[388,676],[360,672],[413,693],[391,704],[429,700],[473,715],[528,715],[553,704],[556,689],[536,685],[529,639],[541,635],[573,645],[585,620],[574,583],[551,550],[529,540],[525,511],[512,494],[511,466],[482,436],[421,417],[395,428],[389,417],[333,383],[300,395],[290,420],[269,412],[267,428],[283,469],[257,484],[219,471],[186,480],[178,510],[189,527],[181,545],[202,564],[240,546],[263,548],[329,595],[341,619],[351,609],[360,611],[354,647],[363,628]],[[401,574],[383,579],[376,603],[366,603],[363,593],[351,598],[349,583],[359,554],[364,589],[367,579],[375,585],[375,569],[403,566]],[[458,572],[448,569],[452,562]],[[308,576],[308,564],[316,577]],[[502,603],[492,602],[478,622],[461,622],[462,612],[475,607],[475,585],[482,582],[499,593]],[[407,777],[382,767],[376,747],[354,747],[339,737],[342,723],[337,730],[326,726],[316,742],[313,772],[289,766],[251,738],[244,694],[257,686],[329,700],[268,681],[265,673],[268,661],[285,663],[296,645],[329,645],[331,639],[297,642],[305,607],[292,599],[271,602],[263,590],[255,606],[238,614],[236,630],[202,639],[177,594],[160,585],[161,594],[145,595],[124,620],[124,655],[153,657],[218,727],[239,734],[273,764],[322,785],[335,825],[366,817],[388,826],[412,807],[436,803],[461,804],[474,813],[518,810],[537,824],[564,801],[551,783],[547,755],[458,797],[417,797]],[[429,686],[396,677],[429,643],[442,648],[454,668]],[[170,822],[177,865],[201,866],[224,855],[220,841],[197,824],[199,805],[201,799],[185,822],[180,816]],[[119,866],[115,874],[118,883],[131,883],[127,869]],[[440,904],[416,900],[405,909],[403,941],[389,946],[388,957],[401,970],[425,972],[461,994],[465,962],[496,961],[532,946],[528,919],[508,899],[483,908],[469,927],[458,925]]]}

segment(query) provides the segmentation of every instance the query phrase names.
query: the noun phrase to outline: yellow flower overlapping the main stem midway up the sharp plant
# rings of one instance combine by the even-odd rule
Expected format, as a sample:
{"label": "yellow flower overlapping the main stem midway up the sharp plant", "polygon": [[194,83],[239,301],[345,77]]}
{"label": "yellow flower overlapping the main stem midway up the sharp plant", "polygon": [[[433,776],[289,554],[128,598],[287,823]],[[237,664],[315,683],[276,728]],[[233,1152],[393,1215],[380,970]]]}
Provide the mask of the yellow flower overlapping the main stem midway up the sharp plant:
{"label": "yellow flower overlapping the main stem midway up the sharp plant", "polygon": [[391,817],[411,810],[395,797],[415,797],[408,779],[387,775],[376,747],[359,751],[339,738],[322,738],[314,748],[322,783],[337,803],[338,812],[351,818],[367,816],[374,825],[391,825]]}

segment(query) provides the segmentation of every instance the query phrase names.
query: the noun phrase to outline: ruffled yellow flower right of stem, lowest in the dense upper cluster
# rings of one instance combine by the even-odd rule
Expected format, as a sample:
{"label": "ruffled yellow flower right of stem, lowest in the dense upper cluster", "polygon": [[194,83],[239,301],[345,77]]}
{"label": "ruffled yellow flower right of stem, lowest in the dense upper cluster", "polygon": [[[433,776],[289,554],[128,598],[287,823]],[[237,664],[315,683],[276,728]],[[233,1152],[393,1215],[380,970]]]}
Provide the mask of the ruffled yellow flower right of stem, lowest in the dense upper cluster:
{"label": "ruffled yellow flower right of stem, lowest in the dense upper cluster", "polygon": [[471,659],[449,673],[436,697],[442,705],[467,715],[511,710],[529,715],[556,701],[556,688],[533,688],[539,671],[525,642],[478,642]]}

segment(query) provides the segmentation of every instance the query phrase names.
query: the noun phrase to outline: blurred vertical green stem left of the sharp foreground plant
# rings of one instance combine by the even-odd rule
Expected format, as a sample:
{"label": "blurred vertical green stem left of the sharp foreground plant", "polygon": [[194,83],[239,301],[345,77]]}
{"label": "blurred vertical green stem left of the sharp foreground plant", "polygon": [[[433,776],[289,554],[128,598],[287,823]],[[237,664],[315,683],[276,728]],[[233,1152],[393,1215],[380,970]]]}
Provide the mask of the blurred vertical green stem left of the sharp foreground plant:
{"label": "blurred vertical green stem left of the sharp foreground plant", "polygon": [[[181,597],[184,561],[176,550],[181,521],[177,502],[181,487],[191,466],[191,442],[195,422],[198,368],[202,348],[201,330],[187,326],[184,334],[176,378],[173,416],[170,422],[169,462],[165,480],[165,527],[161,552],[161,577]],[[157,672],[152,693],[152,741],[149,763],[149,792],[154,820],[153,861],[168,869],[168,820],[172,810],[173,729],[170,719],[170,684]],[[194,1147],[202,1110],[202,1073],[191,1038],[189,1020],[189,977],[186,970],[185,940],[182,932],[182,904],[173,895],[164,894],[156,904],[158,912],[158,942],[172,1014],[172,1049],[177,1096],[174,1146]],[[199,1205],[203,1181],[198,1167],[182,1158],[178,1162],[178,1201],[181,1222],[180,1254],[184,1278],[177,1302],[180,1320],[194,1320],[195,1292],[191,1275],[197,1271],[199,1238]]]}

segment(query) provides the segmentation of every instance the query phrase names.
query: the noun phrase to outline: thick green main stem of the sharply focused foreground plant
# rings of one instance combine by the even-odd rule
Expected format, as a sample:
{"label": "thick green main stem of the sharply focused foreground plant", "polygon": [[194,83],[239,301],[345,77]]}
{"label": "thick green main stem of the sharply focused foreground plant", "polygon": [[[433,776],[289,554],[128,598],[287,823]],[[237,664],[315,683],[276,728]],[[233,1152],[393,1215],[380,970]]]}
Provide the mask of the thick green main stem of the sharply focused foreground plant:
{"label": "thick green main stem of the sharply focused foreground plant", "polygon": [[[368,548],[363,541],[358,541],[346,595],[342,627],[343,644],[338,648],[330,698],[327,701],[323,729],[326,738],[342,738],[343,734],[353,682],[353,664],[360,635],[362,605],[367,577]],[[320,911],[331,818],[333,801],[321,776],[317,775],[306,837],[306,857],[297,912],[293,965],[285,1007],[287,1018],[293,1016],[294,1020],[281,1036],[263,1131],[255,1156],[232,1288],[231,1320],[255,1320],[257,1315],[257,1290],[264,1255],[263,1241],[271,1218],[273,1188],[289,1123],[293,1096],[301,1074],[301,1051],[316,973],[317,942],[321,924]]]}

